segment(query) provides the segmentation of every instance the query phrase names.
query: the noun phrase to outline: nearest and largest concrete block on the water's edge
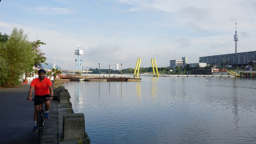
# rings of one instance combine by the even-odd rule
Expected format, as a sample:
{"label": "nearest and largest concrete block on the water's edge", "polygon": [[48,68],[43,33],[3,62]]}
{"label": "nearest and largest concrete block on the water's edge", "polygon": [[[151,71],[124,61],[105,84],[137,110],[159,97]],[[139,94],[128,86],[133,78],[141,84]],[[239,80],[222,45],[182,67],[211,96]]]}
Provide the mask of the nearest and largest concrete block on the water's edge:
{"label": "nearest and largest concrete block on the water's edge", "polygon": [[62,139],[83,139],[85,137],[84,114],[64,114]]}

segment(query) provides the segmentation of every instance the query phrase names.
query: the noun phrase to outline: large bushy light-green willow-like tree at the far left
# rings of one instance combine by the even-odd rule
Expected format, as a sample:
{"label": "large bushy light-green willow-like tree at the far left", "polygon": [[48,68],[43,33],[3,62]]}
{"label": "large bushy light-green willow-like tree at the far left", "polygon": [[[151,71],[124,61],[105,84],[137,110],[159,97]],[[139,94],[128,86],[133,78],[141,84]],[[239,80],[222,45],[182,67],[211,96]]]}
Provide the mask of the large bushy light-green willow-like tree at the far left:
{"label": "large bushy light-green willow-like tree at the far left", "polygon": [[[13,28],[12,34],[6,42],[0,44],[1,57],[6,63],[7,77],[1,79],[1,86],[16,87],[20,85],[20,78],[24,72],[28,72],[33,67],[35,51],[28,41],[28,35],[24,34],[22,28]],[[3,78],[3,77],[1,77]]]}

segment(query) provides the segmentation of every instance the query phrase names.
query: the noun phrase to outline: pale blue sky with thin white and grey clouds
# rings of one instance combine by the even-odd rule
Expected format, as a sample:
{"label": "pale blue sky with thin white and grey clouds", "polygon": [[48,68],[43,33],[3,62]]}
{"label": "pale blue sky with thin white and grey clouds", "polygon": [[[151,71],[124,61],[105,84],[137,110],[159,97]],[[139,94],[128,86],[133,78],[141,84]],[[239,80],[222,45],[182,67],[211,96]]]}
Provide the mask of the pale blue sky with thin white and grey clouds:
{"label": "pale blue sky with thin white and grey clouds", "polygon": [[78,38],[83,68],[167,67],[169,60],[255,51],[254,0],[2,0],[0,32],[23,28],[41,40],[47,58],[75,69]]}

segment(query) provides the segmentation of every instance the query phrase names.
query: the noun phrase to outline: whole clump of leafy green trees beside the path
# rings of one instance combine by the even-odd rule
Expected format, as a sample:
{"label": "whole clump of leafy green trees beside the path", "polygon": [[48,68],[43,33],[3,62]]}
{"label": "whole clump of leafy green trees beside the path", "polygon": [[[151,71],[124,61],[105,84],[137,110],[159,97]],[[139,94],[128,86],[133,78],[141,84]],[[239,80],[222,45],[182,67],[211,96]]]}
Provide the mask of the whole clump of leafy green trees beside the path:
{"label": "whole clump of leafy green trees beside the path", "polygon": [[13,28],[10,35],[0,33],[0,87],[16,87],[25,73],[45,63],[40,40],[29,42],[22,28]]}

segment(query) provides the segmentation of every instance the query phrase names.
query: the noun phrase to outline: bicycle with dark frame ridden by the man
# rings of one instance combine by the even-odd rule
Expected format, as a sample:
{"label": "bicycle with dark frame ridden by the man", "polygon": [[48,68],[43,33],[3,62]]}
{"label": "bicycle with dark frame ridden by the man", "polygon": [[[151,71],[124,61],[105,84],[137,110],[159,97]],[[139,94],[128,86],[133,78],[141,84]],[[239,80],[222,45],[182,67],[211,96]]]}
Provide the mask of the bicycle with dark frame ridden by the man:
{"label": "bicycle with dark frame ridden by the man", "polygon": [[[27,98],[28,100],[28,98]],[[43,101],[48,101],[49,99],[32,99],[32,101],[39,101],[39,110],[37,111],[37,132],[38,132],[38,142],[41,142],[43,132],[44,132],[44,124],[45,124],[45,116],[44,116],[44,109],[43,109]]]}

